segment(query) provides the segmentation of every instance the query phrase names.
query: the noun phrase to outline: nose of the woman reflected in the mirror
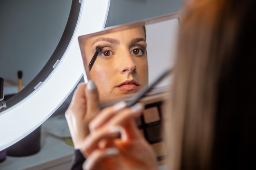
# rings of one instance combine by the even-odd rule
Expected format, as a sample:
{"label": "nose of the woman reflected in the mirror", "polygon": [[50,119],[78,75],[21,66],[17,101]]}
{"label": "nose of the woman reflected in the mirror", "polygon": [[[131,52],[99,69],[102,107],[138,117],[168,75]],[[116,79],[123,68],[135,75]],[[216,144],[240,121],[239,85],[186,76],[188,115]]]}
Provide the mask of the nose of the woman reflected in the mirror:
{"label": "nose of the woman reflected in the mirror", "polygon": [[121,73],[132,73],[136,71],[136,64],[133,57],[129,55],[124,55],[120,57],[120,72]]}

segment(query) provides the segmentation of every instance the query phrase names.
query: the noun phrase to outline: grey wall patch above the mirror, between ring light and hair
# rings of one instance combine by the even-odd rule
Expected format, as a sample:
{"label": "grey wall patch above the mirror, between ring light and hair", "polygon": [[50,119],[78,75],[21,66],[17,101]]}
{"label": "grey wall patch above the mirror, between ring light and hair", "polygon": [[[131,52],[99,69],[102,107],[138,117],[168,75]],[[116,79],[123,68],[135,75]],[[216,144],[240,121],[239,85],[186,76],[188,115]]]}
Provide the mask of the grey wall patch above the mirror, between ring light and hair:
{"label": "grey wall patch above the mirror, between ring light and hair", "polygon": [[111,0],[106,26],[175,13],[182,2],[183,0]]}

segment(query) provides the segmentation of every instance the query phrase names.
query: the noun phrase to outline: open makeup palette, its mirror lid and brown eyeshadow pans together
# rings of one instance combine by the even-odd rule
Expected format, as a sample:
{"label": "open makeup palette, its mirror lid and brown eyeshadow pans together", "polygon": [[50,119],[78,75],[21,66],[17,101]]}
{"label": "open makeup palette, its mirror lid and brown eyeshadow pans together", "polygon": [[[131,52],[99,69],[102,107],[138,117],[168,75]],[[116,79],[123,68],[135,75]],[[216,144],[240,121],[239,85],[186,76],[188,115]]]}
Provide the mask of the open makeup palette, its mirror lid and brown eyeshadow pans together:
{"label": "open makeup palette, its mirror lid and brown eyeshadow pans together", "polygon": [[[165,164],[167,155],[162,125],[171,76],[167,74],[161,82],[155,80],[173,68],[178,27],[178,14],[170,14],[78,38],[85,82],[86,77],[95,82],[101,108],[119,100],[126,100],[128,106],[138,99],[145,104],[141,117],[135,121],[155,151],[159,165]],[[152,85],[154,88],[149,91]]]}

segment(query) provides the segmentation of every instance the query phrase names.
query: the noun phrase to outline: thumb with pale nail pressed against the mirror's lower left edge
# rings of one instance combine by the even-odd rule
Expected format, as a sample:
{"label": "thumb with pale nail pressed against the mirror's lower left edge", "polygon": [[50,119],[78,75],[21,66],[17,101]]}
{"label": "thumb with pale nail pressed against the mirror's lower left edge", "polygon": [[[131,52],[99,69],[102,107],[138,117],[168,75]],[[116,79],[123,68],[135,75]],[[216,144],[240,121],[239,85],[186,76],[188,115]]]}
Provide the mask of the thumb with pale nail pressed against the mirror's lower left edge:
{"label": "thumb with pale nail pressed against the mirror's lower left edge", "polygon": [[88,119],[91,120],[100,111],[99,94],[92,80],[88,80],[88,83],[86,85],[85,95],[87,99],[87,115],[88,115]]}

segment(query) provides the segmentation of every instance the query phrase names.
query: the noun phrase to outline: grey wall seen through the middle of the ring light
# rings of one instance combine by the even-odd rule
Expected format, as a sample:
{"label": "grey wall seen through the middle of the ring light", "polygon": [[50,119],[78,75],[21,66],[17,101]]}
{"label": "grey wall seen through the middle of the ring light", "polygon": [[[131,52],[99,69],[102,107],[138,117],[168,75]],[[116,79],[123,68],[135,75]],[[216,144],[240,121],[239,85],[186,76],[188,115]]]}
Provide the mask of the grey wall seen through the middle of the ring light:
{"label": "grey wall seen through the middle of the ring light", "polygon": [[0,0],[0,77],[28,84],[54,52],[71,0]]}

